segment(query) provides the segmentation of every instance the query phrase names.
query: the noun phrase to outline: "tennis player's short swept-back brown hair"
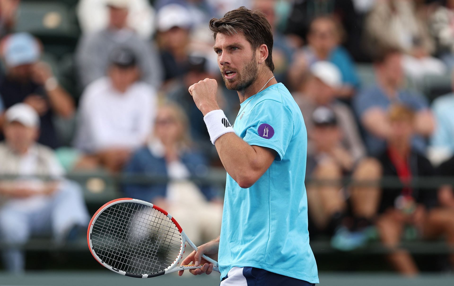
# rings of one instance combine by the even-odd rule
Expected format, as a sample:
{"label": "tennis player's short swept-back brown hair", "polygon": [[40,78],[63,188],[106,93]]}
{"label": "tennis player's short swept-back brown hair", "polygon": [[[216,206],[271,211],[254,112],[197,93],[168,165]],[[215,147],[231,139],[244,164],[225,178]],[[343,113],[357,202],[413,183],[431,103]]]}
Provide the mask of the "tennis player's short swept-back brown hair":
{"label": "tennis player's short swept-back brown hair", "polygon": [[243,33],[253,49],[266,44],[268,58],[266,58],[265,63],[271,72],[274,72],[272,57],[273,32],[263,12],[260,10],[252,11],[242,6],[238,9],[228,11],[221,19],[211,19],[209,27],[210,31],[213,32],[215,41],[217,33],[227,35]]}

